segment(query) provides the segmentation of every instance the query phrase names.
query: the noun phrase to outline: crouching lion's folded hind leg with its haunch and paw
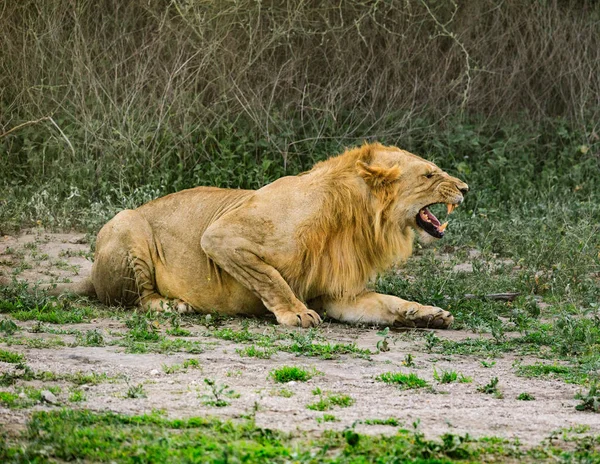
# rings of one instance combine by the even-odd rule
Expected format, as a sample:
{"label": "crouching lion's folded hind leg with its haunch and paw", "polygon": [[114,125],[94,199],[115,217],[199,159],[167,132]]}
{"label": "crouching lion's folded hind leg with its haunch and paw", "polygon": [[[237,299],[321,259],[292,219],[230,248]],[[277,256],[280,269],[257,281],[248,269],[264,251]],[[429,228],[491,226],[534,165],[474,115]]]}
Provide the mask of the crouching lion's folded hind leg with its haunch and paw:
{"label": "crouching lion's folded hind leg with its haunch and paw", "polygon": [[138,211],[125,210],[98,234],[92,281],[100,301],[185,313],[191,307],[156,288],[155,263],[164,259],[152,227]]}

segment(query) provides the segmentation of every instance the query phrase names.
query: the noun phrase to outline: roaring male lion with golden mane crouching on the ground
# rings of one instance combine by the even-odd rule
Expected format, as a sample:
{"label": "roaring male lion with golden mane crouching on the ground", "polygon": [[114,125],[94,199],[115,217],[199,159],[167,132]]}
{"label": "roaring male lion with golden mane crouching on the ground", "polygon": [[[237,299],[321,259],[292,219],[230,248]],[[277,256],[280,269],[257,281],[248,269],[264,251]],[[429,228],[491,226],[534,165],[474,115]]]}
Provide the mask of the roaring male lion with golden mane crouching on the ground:
{"label": "roaring male lion with golden mane crouching on the ground", "polygon": [[377,143],[256,191],[184,190],[111,219],[91,280],[75,291],[158,311],[268,310],[302,327],[325,311],[340,321],[445,328],[449,312],[366,285],[411,254],[415,230],[441,238],[445,224],[428,206],[451,212],[467,190],[435,164]]}

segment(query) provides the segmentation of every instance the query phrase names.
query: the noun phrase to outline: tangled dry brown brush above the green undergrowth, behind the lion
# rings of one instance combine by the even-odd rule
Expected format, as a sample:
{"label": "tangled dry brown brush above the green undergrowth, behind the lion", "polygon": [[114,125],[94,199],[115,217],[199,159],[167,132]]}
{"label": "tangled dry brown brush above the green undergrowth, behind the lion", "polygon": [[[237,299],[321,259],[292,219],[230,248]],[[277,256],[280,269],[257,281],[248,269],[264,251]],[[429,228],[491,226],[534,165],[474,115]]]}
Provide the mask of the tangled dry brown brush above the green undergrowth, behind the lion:
{"label": "tangled dry brown brush above the green undergrowth, behind the lion", "polygon": [[3,2],[0,133],[52,116],[80,160],[155,166],[225,122],[284,156],[457,113],[589,125],[599,24],[592,0]]}

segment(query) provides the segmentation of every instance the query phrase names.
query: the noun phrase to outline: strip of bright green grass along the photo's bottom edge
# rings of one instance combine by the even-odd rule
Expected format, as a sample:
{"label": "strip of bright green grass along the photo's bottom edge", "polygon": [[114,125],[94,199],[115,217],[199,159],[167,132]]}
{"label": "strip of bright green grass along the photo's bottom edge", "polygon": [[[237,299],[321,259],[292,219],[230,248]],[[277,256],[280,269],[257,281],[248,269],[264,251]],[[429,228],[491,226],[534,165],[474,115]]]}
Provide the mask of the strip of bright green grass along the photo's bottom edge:
{"label": "strip of bright green grass along the photo's bottom edge", "polygon": [[[392,424],[389,424],[392,425]],[[391,436],[352,432],[296,437],[257,427],[252,421],[222,422],[210,417],[167,419],[159,413],[126,416],[61,409],[34,412],[20,435],[0,440],[4,462],[297,462],[365,464],[366,462],[454,461],[594,462],[600,458],[585,438],[572,438],[569,449],[544,443],[521,449],[515,442],[444,435],[428,440],[414,430]],[[587,461],[583,461],[587,460]]]}

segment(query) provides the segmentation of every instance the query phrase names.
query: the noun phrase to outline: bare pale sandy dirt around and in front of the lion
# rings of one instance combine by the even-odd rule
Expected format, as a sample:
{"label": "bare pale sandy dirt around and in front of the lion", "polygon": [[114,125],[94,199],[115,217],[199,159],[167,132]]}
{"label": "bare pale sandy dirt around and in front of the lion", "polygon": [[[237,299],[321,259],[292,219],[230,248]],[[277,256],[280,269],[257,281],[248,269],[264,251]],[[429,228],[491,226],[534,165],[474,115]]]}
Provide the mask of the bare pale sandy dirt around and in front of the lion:
{"label": "bare pale sandy dirt around and in front of the lion", "polygon": [[[32,245],[33,244],[33,245]],[[7,249],[8,254],[7,254]],[[19,255],[19,250],[24,250]],[[67,251],[68,250],[68,251]],[[34,251],[32,257],[31,251]],[[47,257],[46,257],[47,255]],[[86,257],[87,256],[87,257]],[[43,259],[37,259],[43,257]],[[19,279],[29,281],[57,281],[81,279],[91,268],[89,244],[83,234],[49,234],[33,231],[19,237],[0,238],[0,272],[10,276],[21,270]],[[28,264],[24,265],[26,262]],[[5,317],[0,315],[0,318]],[[7,409],[0,406],[0,424],[8,428],[21,428],[31,410],[55,408],[61,405],[85,407],[97,411],[111,410],[126,414],[149,413],[154,409],[164,410],[169,417],[218,416],[239,418],[256,410],[257,425],[292,432],[295,430],[318,433],[326,429],[342,430],[353,424],[362,433],[393,433],[395,427],[367,425],[366,419],[396,418],[406,427],[412,428],[419,422],[419,429],[428,437],[444,433],[474,437],[498,436],[518,438],[524,444],[539,444],[557,430],[580,425],[589,426],[588,433],[600,434],[600,419],[597,414],[575,410],[578,403],[574,395],[582,390],[577,385],[558,379],[530,379],[515,375],[515,362],[533,364],[539,359],[532,356],[515,356],[488,359],[464,355],[429,353],[425,348],[423,334],[427,331],[392,331],[390,351],[377,353],[376,345],[381,337],[379,329],[353,327],[326,322],[319,329],[320,335],[332,343],[356,343],[374,354],[371,359],[342,355],[338,359],[323,360],[276,352],[270,359],[242,357],[236,348],[248,345],[224,341],[211,336],[204,316],[191,319],[183,328],[191,331],[186,340],[200,342],[203,352],[199,354],[128,354],[125,348],[110,345],[127,328],[123,318],[111,317],[93,320],[86,324],[63,324],[62,330],[87,331],[98,329],[107,346],[76,346],[74,335],[33,333],[27,330],[19,336],[28,338],[61,338],[64,346],[52,349],[28,348],[25,345],[0,344],[0,347],[22,353],[27,364],[35,371],[55,373],[106,373],[117,380],[98,385],[83,385],[86,400],[82,403],[67,401],[70,385],[60,383],[62,391],[57,395],[58,405],[38,404],[29,409]],[[251,320],[250,330],[260,333],[286,333],[290,330],[273,324],[273,321]],[[34,322],[19,322],[24,328],[33,327]],[[233,319],[225,327],[241,328],[242,321]],[[483,335],[474,333],[438,330],[442,339],[462,340]],[[73,343],[74,346],[69,346]],[[407,354],[414,357],[415,366],[403,364]],[[186,369],[167,374],[164,366],[182,364],[186,359],[199,361],[199,369]],[[495,362],[484,367],[482,360]],[[544,360],[548,362],[548,360]],[[283,365],[314,368],[319,372],[308,382],[277,384],[268,377],[269,372]],[[471,383],[440,384],[434,380],[437,372],[455,370],[473,378]],[[13,365],[0,362],[0,372],[13,369]],[[414,372],[426,379],[431,388],[400,390],[375,380],[383,372]],[[498,377],[503,398],[477,391],[491,378]],[[203,404],[202,395],[207,393],[203,379],[227,384],[239,394],[230,399],[223,408]],[[56,383],[55,383],[56,384]],[[128,386],[143,384],[146,398],[126,398]],[[43,388],[39,381],[30,382]],[[351,396],[355,403],[346,408],[335,407],[325,411],[335,416],[334,422],[319,422],[324,412],[306,408],[318,400],[312,392],[319,387],[323,392],[343,393]],[[13,387],[3,388],[10,390]],[[285,389],[292,396],[281,396]],[[527,392],[535,401],[518,401],[517,396]]]}

